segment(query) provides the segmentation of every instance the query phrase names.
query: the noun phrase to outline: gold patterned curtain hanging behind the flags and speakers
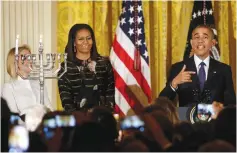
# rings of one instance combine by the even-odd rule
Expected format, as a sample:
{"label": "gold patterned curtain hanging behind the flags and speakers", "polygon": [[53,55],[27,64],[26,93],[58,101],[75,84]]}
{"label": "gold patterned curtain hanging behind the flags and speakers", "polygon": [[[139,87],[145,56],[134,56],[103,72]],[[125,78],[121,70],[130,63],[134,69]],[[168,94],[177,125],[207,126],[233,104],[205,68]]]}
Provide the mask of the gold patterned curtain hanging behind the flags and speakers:
{"label": "gold patterned curtain hanging behind the flags and speakers", "polygon": [[[236,2],[213,1],[221,61],[232,67],[236,85]],[[109,56],[122,1],[57,2],[57,49],[64,52],[75,23],[87,23],[95,32],[98,51]],[[144,1],[145,34],[150,55],[152,98],[164,88],[171,64],[185,50],[193,1]],[[62,109],[57,98],[58,109]]]}

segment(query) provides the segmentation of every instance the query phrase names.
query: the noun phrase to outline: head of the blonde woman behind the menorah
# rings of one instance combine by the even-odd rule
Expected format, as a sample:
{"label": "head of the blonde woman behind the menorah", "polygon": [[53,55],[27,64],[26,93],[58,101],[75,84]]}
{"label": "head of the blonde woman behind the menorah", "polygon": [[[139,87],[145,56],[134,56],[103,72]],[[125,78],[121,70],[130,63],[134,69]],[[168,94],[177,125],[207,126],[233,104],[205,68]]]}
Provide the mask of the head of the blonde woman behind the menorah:
{"label": "head of the blonde woman behind the menorah", "polygon": [[[16,48],[10,49],[7,55],[7,73],[10,75],[12,79],[17,79],[17,72],[15,68],[15,50]],[[23,76],[27,76],[31,69],[31,62],[27,60],[27,57],[31,54],[30,47],[28,45],[22,45],[18,47],[18,69],[17,71]],[[25,60],[24,60],[24,59]]]}

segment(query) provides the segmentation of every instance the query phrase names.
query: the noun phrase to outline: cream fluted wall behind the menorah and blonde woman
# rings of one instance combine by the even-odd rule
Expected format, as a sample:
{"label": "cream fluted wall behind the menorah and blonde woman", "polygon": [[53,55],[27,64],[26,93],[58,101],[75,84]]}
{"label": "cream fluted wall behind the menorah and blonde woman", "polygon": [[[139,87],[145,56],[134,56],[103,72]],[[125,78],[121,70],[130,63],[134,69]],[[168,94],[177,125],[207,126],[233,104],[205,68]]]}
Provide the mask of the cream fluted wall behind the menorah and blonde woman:
{"label": "cream fluted wall behind the menorah and blonde woman", "polygon": [[[6,56],[15,47],[16,35],[19,45],[28,44],[37,53],[40,34],[43,35],[44,53],[57,52],[56,3],[53,1],[1,1],[1,85],[9,80],[6,73]],[[56,81],[47,80],[50,99],[56,108]]]}

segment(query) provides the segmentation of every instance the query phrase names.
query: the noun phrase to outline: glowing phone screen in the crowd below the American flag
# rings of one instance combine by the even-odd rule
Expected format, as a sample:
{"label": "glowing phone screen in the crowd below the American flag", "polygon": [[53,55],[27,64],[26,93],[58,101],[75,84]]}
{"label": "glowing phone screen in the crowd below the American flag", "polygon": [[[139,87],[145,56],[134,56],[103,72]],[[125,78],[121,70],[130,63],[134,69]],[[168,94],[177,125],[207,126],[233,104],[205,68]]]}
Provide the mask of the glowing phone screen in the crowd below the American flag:
{"label": "glowing phone screen in the crowd below the American flag", "polygon": [[138,116],[128,116],[120,122],[122,130],[126,129],[139,129],[144,130],[144,121],[142,121]]}

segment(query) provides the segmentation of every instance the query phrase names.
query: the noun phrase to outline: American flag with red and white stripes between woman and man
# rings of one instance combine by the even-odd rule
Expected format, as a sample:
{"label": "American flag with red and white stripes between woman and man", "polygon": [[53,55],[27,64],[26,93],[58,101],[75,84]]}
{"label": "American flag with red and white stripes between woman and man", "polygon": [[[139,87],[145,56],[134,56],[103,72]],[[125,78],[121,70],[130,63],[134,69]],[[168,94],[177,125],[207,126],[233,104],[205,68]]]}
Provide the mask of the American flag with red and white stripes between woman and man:
{"label": "American flag with red and white stripes between woman and man", "polygon": [[[138,58],[135,53],[139,53]],[[123,1],[110,61],[115,77],[115,112],[126,115],[136,105],[125,90],[127,85],[137,84],[150,102],[150,67],[141,1]],[[135,61],[138,70],[134,69]]]}

